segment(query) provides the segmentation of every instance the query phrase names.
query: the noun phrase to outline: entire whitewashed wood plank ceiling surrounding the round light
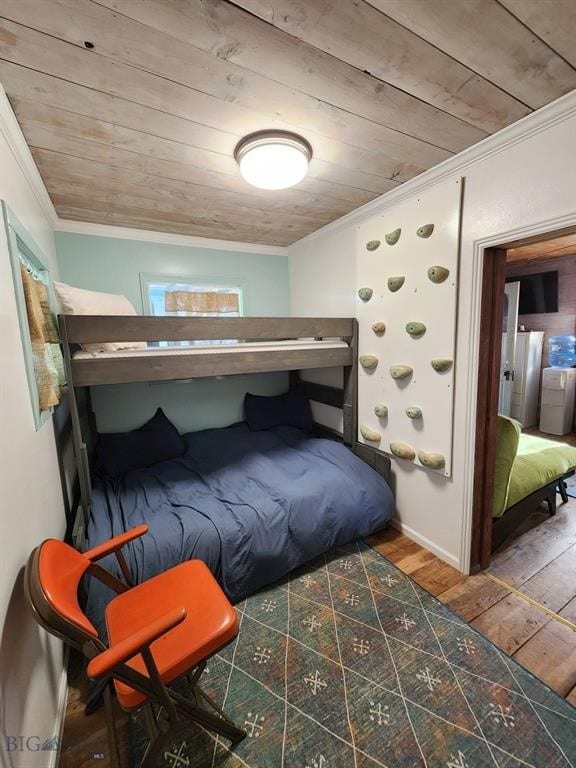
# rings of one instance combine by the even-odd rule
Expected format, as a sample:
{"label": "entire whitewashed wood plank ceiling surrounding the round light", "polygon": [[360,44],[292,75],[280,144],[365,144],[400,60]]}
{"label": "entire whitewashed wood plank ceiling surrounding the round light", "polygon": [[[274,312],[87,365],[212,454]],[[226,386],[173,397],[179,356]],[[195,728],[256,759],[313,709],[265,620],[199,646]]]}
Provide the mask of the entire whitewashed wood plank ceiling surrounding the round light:
{"label": "entire whitewashed wood plank ceiling surrounding the round light", "polygon": [[[574,0],[2,0],[0,80],[63,219],[287,245],[576,88]],[[304,136],[297,187],[233,159]]]}

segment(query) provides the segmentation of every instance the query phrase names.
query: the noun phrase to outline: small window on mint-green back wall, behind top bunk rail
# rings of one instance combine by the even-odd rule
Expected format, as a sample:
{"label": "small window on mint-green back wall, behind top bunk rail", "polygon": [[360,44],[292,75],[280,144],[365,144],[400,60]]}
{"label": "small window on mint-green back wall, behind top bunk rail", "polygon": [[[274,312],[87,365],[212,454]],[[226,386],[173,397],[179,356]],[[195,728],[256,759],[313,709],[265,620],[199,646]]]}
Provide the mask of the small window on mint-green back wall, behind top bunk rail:
{"label": "small window on mint-green back wall, behind top bunk rail", "polygon": [[[154,317],[241,317],[244,314],[242,287],[217,279],[142,275],[145,311]],[[237,339],[150,342],[152,346],[235,344]]]}

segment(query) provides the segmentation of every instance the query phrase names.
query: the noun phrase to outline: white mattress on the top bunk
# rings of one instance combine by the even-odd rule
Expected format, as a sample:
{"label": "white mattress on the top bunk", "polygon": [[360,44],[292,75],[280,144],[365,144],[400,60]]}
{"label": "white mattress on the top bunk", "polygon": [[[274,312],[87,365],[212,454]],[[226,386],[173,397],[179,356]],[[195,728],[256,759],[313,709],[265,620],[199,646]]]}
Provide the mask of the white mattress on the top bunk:
{"label": "white mattress on the top bunk", "polygon": [[164,357],[166,355],[238,354],[239,352],[280,352],[283,349],[303,351],[307,349],[345,349],[348,344],[340,339],[287,339],[286,341],[240,341],[233,344],[195,344],[190,347],[146,347],[144,349],[119,349],[115,352],[74,353],[75,360],[116,359],[125,357]]}

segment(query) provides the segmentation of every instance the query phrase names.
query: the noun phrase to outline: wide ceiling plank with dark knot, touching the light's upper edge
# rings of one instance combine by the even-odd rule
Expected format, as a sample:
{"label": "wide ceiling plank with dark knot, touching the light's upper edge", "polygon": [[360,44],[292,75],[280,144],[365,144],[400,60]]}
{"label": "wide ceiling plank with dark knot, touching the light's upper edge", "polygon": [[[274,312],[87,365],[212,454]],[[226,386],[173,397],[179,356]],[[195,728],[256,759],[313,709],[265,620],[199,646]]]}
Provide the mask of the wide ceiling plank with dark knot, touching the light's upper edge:
{"label": "wide ceiling plank with dark knot, touching the light's upper edge", "polygon": [[[98,13],[97,13],[98,12]],[[0,58],[241,135],[297,130],[428,168],[451,152],[382,127],[84,0],[5,0]],[[30,25],[30,26],[25,26]],[[34,28],[31,28],[34,27]],[[41,32],[36,27],[42,29]],[[94,50],[77,41],[90,33]],[[80,37],[78,37],[78,35]]]}

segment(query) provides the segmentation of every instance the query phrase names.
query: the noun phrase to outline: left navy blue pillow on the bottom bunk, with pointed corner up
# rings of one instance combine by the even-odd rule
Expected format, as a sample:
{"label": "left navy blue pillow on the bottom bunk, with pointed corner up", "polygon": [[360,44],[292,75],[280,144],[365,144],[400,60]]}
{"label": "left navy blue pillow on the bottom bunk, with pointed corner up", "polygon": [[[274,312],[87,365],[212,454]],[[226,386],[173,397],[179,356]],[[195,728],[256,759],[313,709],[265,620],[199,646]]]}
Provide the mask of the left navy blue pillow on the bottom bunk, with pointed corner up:
{"label": "left navy blue pillow on the bottom bunk, with pointed corner up", "polygon": [[98,435],[98,471],[107,477],[124,475],[168,459],[176,459],[186,443],[172,422],[158,408],[146,424],[132,432]]}

